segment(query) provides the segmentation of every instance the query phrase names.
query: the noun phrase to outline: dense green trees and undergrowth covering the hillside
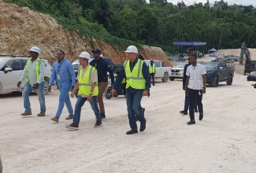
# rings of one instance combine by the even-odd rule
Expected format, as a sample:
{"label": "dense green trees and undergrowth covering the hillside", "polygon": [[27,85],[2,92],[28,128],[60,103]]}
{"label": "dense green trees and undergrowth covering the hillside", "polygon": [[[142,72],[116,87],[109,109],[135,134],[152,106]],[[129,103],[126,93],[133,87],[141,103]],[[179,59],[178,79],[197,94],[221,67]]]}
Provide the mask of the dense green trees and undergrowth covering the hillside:
{"label": "dense green trees and undergrowth covering the hillside", "polygon": [[[174,52],[174,41],[204,41],[207,49],[256,46],[256,9],[221,0],[187,6],[167,0],[5,0],[48,13],[81,35],[125,49],[139,42]],[[121,39],[119,39],[121,38]],[[132,42],[128,41],[131,40]]]}

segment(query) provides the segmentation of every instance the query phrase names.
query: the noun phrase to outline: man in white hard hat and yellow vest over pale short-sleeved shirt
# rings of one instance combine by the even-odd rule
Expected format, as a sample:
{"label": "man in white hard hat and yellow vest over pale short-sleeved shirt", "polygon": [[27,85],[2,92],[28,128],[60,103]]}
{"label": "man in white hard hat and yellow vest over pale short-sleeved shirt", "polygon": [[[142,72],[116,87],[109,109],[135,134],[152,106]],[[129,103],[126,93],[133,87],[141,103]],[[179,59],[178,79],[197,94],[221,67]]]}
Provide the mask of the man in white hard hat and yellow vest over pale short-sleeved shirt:
{"label": "man in white hard hat and yellow vest over pale short-sleeved shirt", "polygon": [[102,126],[102,116],[98,110],[97,95],[98,95],[98,85],[97,85],[97,70],[89,65],[89,60],[91,56],[87,52],[80,53],[79,62],[81,68],[78,70],[76,86],[70,94],[71,98],[74,98],[76,90],[79,89],[78,97],[76,101],[75,116],[73,123],[66,126],[69,129],[77,130],[80,123],[81,109],[85,101],[89,101],[91,104],[91,109],[95,112],[96,123],[95,128]]}

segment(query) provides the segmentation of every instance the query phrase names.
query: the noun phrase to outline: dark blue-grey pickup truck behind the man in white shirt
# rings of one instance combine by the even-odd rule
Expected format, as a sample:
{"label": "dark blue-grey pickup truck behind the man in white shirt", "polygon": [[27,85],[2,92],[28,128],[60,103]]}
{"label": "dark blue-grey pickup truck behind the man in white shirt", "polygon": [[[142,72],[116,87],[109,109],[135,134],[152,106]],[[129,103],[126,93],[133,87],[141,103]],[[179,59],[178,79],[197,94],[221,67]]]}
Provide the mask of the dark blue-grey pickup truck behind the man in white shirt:
{"label": "dark blue-grey pickup truck behind the man in white shirt", "polygon": [[206,68],[206,83],[217,87],[219,82],[226,82],[232,85],[234,77],[234,69],[228,68],[224,62],[205,62],[202,65]]}

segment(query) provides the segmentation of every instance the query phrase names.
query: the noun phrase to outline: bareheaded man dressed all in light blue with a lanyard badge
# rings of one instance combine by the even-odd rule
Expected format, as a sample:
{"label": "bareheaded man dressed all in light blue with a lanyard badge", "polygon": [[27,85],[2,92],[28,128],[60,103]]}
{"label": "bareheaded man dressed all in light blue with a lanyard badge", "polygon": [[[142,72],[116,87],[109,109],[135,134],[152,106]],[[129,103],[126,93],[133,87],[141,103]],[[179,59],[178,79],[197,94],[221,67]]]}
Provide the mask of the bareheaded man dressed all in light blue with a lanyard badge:
{"label": "bareheaded man dressed all in light blue with a lanyard badge", "polygon": [[51,90],[51,86],[53,85],[54,81],[56,80],[58,89],[60,90],[60,97],[58,103],[58,110],[56,116],[51,120],[58,122],[58,119],[61,116],[61,112],[64,108],[64,105],[67,106],[69,111],[69,116],[66,120],[73,119],[73,109],[69,98],[69,90],[73,89],[76,85],[76,74],[72,64],[64,59],[65,53],[62,50],[59,50],[56,58],[58,59],[57,62],[54,63],[53,72],[50,76],[50,83],[49,83],[49,92]]}

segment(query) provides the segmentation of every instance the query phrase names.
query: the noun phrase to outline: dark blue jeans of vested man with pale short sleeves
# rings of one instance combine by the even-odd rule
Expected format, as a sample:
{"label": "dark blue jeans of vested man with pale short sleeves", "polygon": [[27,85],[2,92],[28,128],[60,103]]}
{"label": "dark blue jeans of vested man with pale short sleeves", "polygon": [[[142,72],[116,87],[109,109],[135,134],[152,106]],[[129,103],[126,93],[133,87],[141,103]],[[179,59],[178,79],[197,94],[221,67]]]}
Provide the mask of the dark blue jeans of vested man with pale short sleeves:
{"label": "dark blue jeans of vested man with pale short sleeves", "polygon": [[[77,101],[76,101],[75,115],[73,120],[73,123],[75,123],[77,126],[80,123],[81,109],[85,101],[87,101],[87,98],[82,98],[80,95],[78,95]],[[97,123],[102,123],[102,116],[98,110],[97,96],[93,96],[91,101],[89,102],[91,104],[91,109],[95,112]]]}

